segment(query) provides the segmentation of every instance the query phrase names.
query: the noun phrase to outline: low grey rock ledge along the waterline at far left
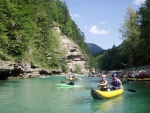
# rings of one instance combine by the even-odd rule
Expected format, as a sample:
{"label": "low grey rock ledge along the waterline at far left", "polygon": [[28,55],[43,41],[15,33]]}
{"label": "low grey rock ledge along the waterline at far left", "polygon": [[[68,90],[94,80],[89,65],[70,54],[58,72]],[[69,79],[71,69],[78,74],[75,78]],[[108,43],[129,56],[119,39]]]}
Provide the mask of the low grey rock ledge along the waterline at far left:
{"label": "low grey rock ledge along the waterline at far left", "polygon": [[[44,73],[45,72],[45,73]],[[29,63],[16,63],[12,61],[0,61],[0,80],[12,78],[33,78],[40,74],[50,75],[51,72],[44,70]]]}

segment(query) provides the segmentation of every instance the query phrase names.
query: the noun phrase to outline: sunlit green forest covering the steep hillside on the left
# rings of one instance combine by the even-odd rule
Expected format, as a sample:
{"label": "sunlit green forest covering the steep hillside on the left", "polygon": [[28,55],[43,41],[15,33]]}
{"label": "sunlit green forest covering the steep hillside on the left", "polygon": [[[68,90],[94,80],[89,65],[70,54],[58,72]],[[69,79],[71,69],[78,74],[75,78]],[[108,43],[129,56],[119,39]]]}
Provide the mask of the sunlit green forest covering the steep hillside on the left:
{"label": "sunlit green forest covering the steep hillside on the left", "polygon": [[[66,61],[60,62],[54,54],[59,42],[53,27],[59,27],[63,35],[89,54],[84,33],[61,0],[0,0],[0,20],[1,60],[29,62],[47,68],[66,65]],[[47,59],[46,54],[50,54],[51,59]]]}

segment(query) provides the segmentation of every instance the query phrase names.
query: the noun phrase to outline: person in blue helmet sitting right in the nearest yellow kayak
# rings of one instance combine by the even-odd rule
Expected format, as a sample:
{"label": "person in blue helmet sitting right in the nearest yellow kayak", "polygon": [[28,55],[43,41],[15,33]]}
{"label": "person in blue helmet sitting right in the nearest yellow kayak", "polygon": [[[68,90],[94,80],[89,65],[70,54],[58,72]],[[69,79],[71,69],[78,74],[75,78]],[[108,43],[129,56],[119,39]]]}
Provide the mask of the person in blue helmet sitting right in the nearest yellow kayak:
{"label": "person in blue helmet sitting right in the nearest yellow kayak", "polygon": [[111,85],[112,85],[112,90],[121,88],[122,82],[117,78],[117,74],[112,74]]}

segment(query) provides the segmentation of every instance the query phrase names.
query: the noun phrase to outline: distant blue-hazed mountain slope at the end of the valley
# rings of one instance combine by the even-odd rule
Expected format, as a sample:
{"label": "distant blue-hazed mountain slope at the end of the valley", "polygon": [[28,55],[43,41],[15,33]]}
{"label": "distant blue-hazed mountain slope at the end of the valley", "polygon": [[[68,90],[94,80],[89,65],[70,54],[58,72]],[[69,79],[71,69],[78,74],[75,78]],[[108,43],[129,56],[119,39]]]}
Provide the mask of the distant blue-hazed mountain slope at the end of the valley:
{"label": "distant blue-hazed mountain slope at the end of the valley", "polygon": [[103,51],[101,47],[93,43],[87,43],[87,46],[89,48],[90,54],[93,56]]}

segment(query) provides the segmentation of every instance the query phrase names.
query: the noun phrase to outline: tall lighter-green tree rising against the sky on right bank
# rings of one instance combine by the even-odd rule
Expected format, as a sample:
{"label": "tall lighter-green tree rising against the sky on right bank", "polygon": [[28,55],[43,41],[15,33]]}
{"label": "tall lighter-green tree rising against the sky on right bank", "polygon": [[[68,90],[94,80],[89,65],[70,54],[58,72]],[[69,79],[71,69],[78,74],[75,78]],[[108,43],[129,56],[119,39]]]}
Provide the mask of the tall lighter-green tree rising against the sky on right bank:
{"label": "tall lighter-green tree rising against the sky on right bank", "polygon": [[119,30],[122,33],[124,43],[127,43],[126,48],[129,51],[129,64],[132,66],[137,65],[136,48],[139,42],[139,18],[137,13],[128,7],[127,15],[124,18],[122,28]]}

